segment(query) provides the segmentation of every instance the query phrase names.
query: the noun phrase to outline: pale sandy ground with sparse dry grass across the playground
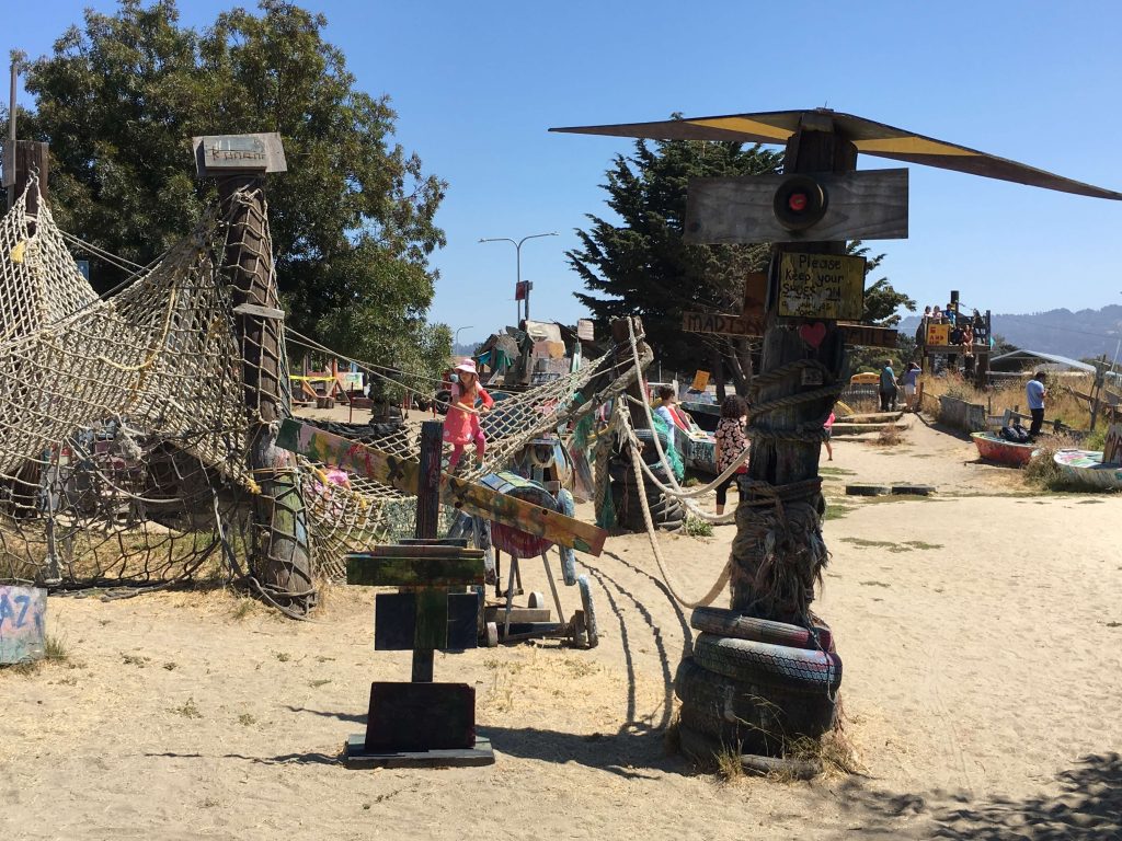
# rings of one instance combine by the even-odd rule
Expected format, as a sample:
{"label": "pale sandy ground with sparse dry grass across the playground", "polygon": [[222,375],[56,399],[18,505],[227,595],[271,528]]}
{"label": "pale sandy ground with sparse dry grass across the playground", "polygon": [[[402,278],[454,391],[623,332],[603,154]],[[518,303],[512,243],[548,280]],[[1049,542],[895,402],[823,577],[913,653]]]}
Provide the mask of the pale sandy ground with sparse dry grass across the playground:
{"label": "pale sandy ground with sparse dry grass across the playground", "polygon": [[[369,590],[330,589],[304,623],[222,591],[52,598],[68,658],[0,672],[0,839],[1115,837],[1122,498],[1033,495],[974,458],[917,422],[824,463],[817,609],[862,774],[725,783],[668,755],[688,613],[646,537],[623,535],[581,558],[599,648],[438,655],[438,680],[477,688],[487,768],[340,765],[369,682],[408,676],[407,653],[373,650]],[[846,481],[939,492],[865,500]],[[733,534],[661,538],[683,589],[708,588]]]}

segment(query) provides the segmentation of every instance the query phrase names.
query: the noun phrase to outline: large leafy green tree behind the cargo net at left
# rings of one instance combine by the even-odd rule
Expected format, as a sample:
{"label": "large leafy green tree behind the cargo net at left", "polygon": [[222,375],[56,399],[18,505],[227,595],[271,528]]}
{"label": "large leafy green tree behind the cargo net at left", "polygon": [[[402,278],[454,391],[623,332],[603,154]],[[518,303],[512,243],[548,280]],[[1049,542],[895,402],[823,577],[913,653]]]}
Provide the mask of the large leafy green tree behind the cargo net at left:
{"label": "large leafy green tree behind the cargo net at left", "polygon": [[[426,323],[444,244],[433,216],[447,185],[393,141],[387,96],[356,90],[327,19],[285,0],[223,12],[202,31],[175,0],[86,10],[28,68],[24,123],[52,154],[52,204],[73,234],[147,264],[186,233],[213,183],[194,178],[187,140],[276,131],[288,172],[268,177],[287,324],[362,359],[435,371],[447,329]],[[91,256],[105,289],[121,269]]]}

